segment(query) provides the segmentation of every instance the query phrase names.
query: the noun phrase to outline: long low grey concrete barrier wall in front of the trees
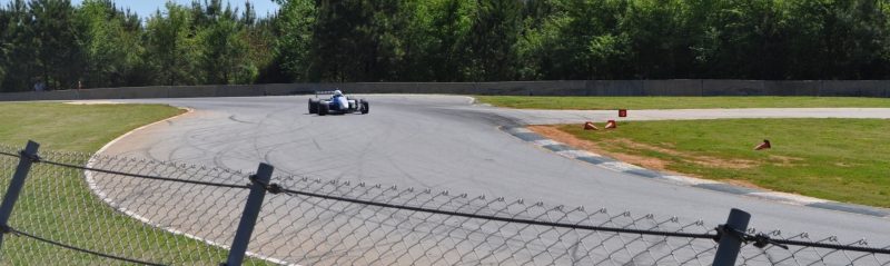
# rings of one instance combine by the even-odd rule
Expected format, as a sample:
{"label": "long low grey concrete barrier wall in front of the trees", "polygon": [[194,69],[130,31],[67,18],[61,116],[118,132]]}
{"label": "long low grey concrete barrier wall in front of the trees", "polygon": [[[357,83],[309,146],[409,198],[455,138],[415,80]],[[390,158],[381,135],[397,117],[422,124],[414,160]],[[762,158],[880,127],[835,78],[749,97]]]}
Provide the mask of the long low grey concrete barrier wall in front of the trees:
{"label": "long low grey concrete barrier wall in front of the trees", "polygon": [[510,96],[854,96],[890,97],[890,80],[560,80],[508,82],[355,82],[238,86],[152,86],[0,93],[0,101],[250,97],[348,93]]}

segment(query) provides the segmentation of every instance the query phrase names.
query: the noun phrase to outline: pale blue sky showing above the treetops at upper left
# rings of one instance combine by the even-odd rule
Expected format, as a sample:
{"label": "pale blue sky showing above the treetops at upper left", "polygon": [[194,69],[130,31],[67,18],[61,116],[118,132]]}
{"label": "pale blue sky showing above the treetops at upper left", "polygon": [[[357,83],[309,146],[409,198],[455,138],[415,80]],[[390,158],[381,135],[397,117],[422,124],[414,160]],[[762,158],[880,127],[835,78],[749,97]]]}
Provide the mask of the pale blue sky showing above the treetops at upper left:
{"label": "pale blue sky showing above the treetops at upper left", "polygon": [[[0,4],[7,6],[11,0],[0,0]],[[164,4],[167,2],[166,0],[113,0],[115,3],[120,9],[129,8],[130,11],[134,11],[139,14],[140,18],[146,18],[151,13],[155,13],[155,10],[159,8],[162,9]],[[192,0],[174,0],[179,4],[184,4],[187,7],[191,6]],[[204,0],[199,0],[204,3]],[[239,11],[244,11],[244,3],[247,0],[222,0],[222,7],[226,7],[226,2],[231,3],[233,8],[238,8]],[[257,12],[257,17],[266,17],[267,13],[275,13],[278,11],[278,4],[273,2],[271,0],[249,0],[251,4],[254,4],[254,9]],[[71,4],[78,6],[82,2],[82,0],[71,0]],[[164,10],[161,10],[164,11]]]}

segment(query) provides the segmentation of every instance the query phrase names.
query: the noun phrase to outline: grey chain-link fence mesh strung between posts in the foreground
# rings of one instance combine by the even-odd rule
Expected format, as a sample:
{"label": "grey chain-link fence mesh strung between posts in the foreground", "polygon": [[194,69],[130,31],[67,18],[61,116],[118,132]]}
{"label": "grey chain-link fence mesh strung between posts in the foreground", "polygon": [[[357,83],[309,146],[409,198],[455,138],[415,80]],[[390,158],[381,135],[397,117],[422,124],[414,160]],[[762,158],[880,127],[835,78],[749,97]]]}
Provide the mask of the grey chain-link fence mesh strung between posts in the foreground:
{"label": "grey chain-link fence mesh strung between posts in the foreground", "polygon": [[[2,189],[21,157],[0,146]],[[259,183],[131,158],[32,159],[0,265],[218,265]],[[260,185],[245,265],[711,265],[725,237],[744,243],[736,265],[890,265],[887,246],[678,217],[308,177]]]}

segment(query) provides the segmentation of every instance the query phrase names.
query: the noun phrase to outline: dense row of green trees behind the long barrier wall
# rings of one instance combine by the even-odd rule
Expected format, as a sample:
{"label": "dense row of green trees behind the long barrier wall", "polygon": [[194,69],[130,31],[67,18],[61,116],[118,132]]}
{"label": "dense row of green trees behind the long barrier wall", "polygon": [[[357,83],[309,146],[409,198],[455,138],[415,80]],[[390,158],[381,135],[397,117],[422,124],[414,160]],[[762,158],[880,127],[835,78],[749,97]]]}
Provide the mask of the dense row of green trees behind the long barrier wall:
{"label": "dense row of green trees behind the long barrier wall", "polygon": [[890,78],[887,0],[277,2],[13,0],[0,86]]}

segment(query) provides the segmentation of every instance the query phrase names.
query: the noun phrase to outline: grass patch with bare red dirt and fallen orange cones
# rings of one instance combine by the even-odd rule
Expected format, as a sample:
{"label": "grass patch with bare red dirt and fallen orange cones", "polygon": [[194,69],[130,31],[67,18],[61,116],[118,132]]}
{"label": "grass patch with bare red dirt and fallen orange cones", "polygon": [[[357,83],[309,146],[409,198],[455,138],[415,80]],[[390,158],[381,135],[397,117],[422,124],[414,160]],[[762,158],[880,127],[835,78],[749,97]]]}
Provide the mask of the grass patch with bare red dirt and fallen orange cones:
{"label": "grass patch with bare red dirt and fallen orange cones", "polygon": [[[627,121],[585,131],[597,151],[649,167],[838,201],[890,207],[890,120]],[[754,151],[763,139],[772,149]]]}

